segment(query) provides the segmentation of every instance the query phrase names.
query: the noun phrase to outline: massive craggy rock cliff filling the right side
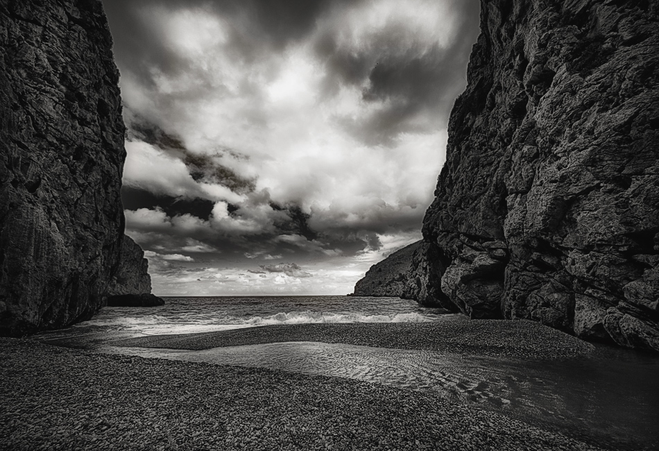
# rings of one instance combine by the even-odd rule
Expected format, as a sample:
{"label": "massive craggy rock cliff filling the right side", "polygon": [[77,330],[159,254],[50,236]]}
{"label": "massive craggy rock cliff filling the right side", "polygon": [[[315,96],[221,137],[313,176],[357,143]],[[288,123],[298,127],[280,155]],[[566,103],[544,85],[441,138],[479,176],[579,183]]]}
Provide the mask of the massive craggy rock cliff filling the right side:
{"label": "massive craggy rock cliff filling the right side", "polygon": [[409,296],[659,351],[658,29],[656,1],[481,3]]}

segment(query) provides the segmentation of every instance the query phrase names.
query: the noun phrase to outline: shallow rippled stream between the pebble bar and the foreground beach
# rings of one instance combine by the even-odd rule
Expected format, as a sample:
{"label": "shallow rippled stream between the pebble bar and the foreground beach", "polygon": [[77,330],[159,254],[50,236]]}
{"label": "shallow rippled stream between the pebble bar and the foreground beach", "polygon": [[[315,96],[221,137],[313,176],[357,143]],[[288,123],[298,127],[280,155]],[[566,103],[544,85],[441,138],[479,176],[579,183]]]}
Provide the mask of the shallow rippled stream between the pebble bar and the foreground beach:
{"label": "shallow rippled stream between the pebble bar and the foreground beach", "polygon": [[659,448],[659,359],[637,352],[598,347],[591,357],[547,361],[315,342],[101,350],[350,377],[474,403],[607,448]]}

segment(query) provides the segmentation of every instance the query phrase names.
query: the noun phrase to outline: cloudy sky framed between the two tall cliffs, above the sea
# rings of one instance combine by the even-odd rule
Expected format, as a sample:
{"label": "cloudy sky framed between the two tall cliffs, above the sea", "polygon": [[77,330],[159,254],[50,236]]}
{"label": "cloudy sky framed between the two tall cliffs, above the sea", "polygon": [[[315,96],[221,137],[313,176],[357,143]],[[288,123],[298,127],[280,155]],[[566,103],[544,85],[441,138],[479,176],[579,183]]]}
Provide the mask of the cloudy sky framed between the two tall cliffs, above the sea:
{"label": "cloudy sky framed between the two tall cliffs, above the sea", "polygon": [[421,238],[477,0],[103,0],[160,296],[351,293]]}

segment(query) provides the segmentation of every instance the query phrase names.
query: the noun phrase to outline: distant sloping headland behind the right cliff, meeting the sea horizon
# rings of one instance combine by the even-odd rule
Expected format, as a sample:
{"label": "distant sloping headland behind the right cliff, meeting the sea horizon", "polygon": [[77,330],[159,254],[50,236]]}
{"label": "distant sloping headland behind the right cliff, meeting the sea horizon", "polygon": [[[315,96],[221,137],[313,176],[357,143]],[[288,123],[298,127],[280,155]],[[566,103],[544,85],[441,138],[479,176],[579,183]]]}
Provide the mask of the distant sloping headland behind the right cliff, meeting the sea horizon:
{"label": "distant sloping headland behind the right cliff, meeting the sea horizon", "polygon": [[392,296],[400,297],[407,282],[407,273],[412,254],[422,241],[405,246],[374,264],[366,275],[354,286],[353,296]]}

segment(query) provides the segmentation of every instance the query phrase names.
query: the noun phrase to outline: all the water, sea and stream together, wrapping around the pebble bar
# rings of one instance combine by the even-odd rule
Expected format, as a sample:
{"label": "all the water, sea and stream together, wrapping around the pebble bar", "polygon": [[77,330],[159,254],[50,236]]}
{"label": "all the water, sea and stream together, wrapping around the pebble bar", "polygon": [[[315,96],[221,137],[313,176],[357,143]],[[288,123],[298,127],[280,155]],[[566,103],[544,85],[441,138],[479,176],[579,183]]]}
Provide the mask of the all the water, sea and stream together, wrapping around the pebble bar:
{"label": "all the water, sea and stream together, wrapping around the pebble bar", "polygon": [[345,344],[289,342],[209,350],[113,346],[116,339],[304,323],[468,321],[400,298],[171,297],[148,308],[104,307],[89,321],[37,335],[46,343],[160,359],[348,377],[496,411],[615,450],[659,450],[659,357],[596,345],[578,359],[511,359]]}

